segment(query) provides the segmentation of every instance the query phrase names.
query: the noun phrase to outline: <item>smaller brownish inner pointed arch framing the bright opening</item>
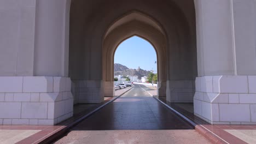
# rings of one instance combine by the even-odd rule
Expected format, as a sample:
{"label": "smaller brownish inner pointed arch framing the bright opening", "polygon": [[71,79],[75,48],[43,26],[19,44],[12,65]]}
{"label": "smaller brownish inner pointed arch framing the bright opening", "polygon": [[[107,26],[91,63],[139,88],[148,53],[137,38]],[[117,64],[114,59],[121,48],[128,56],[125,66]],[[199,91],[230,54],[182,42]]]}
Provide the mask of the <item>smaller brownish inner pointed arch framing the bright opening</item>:
{"label": "smaller brownish inner pointed arch framing the bright opening", "polygon": [[113,23],[105,34],[102,46],[104,95],[107,97],[114,95],[114,52],[122,41],[133,35],[146,39],[155,47],[158,56],[158,95],[165,96],[167,78],[166,37],[164,31],[155,21],[137,11],[133,11]]}

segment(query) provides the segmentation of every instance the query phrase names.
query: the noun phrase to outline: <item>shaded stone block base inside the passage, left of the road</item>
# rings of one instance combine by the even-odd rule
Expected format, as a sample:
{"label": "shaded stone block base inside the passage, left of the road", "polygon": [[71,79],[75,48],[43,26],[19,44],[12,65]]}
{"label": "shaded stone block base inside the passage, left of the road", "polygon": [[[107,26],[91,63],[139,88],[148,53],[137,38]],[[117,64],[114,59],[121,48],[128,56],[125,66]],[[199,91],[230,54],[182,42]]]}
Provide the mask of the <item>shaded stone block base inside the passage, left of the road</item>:
{"label": "shaded stone block base inside the passage, left of the road", "polygon": [[76,103],[97,104],[104,101],[104,83],[100,80],[73,80],[72,93]]}

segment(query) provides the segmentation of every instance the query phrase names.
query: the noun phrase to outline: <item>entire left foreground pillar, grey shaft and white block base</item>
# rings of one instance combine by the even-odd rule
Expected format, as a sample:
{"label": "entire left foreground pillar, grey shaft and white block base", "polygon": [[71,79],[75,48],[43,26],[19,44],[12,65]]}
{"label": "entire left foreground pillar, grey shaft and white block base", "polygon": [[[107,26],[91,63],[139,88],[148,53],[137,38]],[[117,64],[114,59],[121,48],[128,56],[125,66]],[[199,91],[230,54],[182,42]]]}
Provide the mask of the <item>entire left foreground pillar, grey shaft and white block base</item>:
{"label": "entire left foreground pillar, grey shaft and white block base", "polygon": [[[19,55],[4,53],[15,59],[16,70],[7,69],[8,75],[0,70],[0,124],[60,123],[73,116],[71,80],[67,77],[70,1],[19,1],[16,6],[15,13],[23,12],[8,17],[21,21],[10,22],[19,23],[21,38],[12,41],[21,43],[17,43],[19,50],[11,50]],[[11,28],[8,31],[14,32]]]}

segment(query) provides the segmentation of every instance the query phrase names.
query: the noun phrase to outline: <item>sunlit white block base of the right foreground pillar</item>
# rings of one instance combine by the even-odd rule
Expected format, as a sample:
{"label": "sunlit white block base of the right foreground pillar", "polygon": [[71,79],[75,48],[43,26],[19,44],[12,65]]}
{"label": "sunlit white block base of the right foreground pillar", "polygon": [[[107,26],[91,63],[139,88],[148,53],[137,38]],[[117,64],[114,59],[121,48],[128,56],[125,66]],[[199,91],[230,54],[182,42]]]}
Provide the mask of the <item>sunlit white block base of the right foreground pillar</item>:
{"label": "sunlit white block base of the right foreground pillar", "polygon": [[196,78],[194,113],[211,124],[256,124],[256,76]]}

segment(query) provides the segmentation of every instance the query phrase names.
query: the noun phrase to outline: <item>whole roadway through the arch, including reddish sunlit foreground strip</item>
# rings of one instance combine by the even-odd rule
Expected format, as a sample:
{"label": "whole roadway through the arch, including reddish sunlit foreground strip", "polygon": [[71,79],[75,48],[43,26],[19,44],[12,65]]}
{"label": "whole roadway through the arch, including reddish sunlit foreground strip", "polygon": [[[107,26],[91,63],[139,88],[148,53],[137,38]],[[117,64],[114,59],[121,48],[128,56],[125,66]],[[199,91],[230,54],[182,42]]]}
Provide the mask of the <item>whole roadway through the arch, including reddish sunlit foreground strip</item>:
{"label": "whole roadway through the arch, including reddish sunlit foreground strip", "polygon": [[136,85],[56,143],[210,143]]}

